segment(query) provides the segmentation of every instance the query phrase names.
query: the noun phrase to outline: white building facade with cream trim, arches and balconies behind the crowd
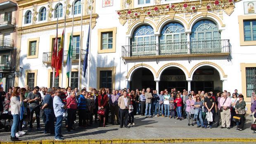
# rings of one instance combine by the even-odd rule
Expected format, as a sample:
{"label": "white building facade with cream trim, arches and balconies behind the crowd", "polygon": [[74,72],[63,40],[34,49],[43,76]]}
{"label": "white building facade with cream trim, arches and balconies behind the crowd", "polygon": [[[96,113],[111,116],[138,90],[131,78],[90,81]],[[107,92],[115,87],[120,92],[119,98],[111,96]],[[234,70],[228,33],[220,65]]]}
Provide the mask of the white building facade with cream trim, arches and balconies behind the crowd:
{"label": "white building facade with cream trim, arches and balconies behind the crowd", "polygon": [[[252,0],[60,0],[58,37],[64,28],[68,50],[73,27],[71,87],[87,87],[88,71],[78,85],[92,5],[89,86],[99,89],[152,87],[158,91],[205,90],[244,94],[250,102],[256,75],[256,12]],[[74,4],[74,8],[72,5]],[[50,67],[56,35],[58,0],[18,0],[20,8],[19,86],[52,87]],[[83,7],[83,10],[82,10]],[[45,10],[44,10],[45,9]],[[81,35],[81,13],[83,27]],[[45,15],[44,15],[45,14]],[[44,17],[45,16],[45,17]],[[29,20],[31,19],[31,20]],[[82,38],[82,50],[79,40]],[[66,54],[64,52],[64,66]],[[66,66],[55,87],[67,87]]]}

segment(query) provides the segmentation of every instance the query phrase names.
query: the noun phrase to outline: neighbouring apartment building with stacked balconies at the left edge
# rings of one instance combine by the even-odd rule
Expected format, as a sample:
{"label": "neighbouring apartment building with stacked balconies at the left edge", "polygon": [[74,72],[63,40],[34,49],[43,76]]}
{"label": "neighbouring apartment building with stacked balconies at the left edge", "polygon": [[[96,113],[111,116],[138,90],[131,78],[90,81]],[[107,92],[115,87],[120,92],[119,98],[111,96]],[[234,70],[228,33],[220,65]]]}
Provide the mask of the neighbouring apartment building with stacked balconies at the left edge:
{"label": "neighbouring apartment building with stacked balconies at the left edge", "polygon": [[16,69],[16,25],[19,10],[15,0],[0,0],[0,86],[14,85]]}

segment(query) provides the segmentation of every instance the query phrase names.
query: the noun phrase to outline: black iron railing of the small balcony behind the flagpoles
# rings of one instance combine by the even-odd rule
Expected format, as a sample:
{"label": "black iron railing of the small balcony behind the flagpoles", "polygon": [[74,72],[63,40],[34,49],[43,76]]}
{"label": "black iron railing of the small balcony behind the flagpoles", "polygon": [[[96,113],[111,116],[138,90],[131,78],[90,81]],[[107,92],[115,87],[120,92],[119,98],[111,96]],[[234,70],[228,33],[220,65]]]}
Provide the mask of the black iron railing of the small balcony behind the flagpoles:
{"label": "black iron railing of the small balcony behind the flagpoles", "polygon": [[[81,59],[84,59],[86,54],[85,50],[81,50]],[[68,51],[64,51],[64,61],[66,61],[68,55]],[[79,50],[72,51],[72,60],[79,60]],[[50,63],[52,61],[52,52],[44,52],[43,53],[43,63]]]}

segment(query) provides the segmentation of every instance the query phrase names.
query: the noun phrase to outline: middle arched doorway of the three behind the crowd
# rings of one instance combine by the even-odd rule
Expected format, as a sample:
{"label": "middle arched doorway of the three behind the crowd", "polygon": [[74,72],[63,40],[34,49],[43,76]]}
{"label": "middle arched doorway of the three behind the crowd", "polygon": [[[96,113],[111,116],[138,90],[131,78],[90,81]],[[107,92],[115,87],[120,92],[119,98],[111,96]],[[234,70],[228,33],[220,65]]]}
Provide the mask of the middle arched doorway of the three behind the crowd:
{"label": "middle arched doorway of the three behind the crowd", "polygon": [[187,90],[186,76],[183,70],[178,67],[168,67],[166,68],[160,76],[159,82],[159,92],[161,90],[167,89],[171,92],[172,88],[176,88],[176,91]]}

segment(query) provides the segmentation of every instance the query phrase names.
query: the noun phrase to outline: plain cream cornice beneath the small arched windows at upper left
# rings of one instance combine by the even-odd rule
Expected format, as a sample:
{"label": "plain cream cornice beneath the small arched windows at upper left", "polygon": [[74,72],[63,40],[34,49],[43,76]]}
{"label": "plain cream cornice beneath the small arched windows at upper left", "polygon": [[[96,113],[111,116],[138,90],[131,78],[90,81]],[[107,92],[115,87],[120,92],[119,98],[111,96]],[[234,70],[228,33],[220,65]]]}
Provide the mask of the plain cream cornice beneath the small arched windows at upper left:
{"label": "plain cream cornice beneath the small arched windows at upper left", "polygon": [[[96,19],[98,14],[92,14],[92,29],[96,26]],[[58,28],[64,28],[64,19],[58,21]],[[83,25],[90,23],[90,15],[83,16]],[[57,21],[50,21],[41,24],[34,24],[31,26],[23,26],[17,28],[17,34],[22,35],[26,33],[35,33],[39,31],[48,31],[52,29],[56,29]],[[74,26],[81,25],[81,17],[74,17]],[[66,27],[72,26],[72,18],[66,19]]]}

